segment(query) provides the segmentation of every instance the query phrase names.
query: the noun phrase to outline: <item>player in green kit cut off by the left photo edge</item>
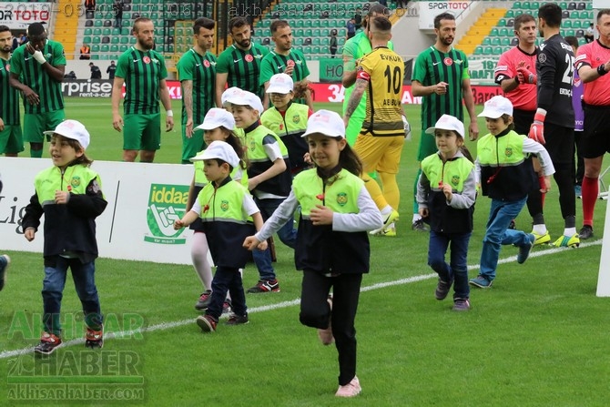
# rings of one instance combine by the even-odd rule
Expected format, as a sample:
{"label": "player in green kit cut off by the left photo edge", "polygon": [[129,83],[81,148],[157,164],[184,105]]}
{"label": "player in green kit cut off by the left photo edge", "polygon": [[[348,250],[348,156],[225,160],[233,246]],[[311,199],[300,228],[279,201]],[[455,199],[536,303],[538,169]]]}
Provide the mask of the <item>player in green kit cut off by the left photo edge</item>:
{"label": "player in green kit cut off by the left photo edge", "polygon": [[19,121],[19,91],[9,85],[12,47],[11,30],[0,25],[0,154],[4,153],[6,157],[17,157],[24,150]]}

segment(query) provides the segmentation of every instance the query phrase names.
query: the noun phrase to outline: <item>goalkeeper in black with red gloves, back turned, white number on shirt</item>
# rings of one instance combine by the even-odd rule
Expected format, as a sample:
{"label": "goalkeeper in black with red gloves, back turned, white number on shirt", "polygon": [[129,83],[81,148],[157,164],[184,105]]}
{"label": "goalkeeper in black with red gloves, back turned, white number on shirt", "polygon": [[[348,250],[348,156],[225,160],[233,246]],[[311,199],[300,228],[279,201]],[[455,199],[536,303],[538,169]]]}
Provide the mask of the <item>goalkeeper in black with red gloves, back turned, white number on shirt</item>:
{"label": "goalkeeper in black with red gloves, back turned, white number on shirt", "polygon": [[[554,241],[556,247],[578,247],[576,233],[576,197],[572,178],[574,160],[574,107],[572,83],[574,79],[574,52],[559,34],[562,9],[546,3],[538,10],[538,31],[544,37],[536,61],[538,108],[529,137],[548,151],[555,168],[554,180],[559,189],[559,206],[564,218],[564,233]],[[524,77],[534,76],[524,67]],[[542,217],[542,207],[539,217]],[[544,218],[543,218],[544,219]],[[546,226],[544,232],[546,232]]]}

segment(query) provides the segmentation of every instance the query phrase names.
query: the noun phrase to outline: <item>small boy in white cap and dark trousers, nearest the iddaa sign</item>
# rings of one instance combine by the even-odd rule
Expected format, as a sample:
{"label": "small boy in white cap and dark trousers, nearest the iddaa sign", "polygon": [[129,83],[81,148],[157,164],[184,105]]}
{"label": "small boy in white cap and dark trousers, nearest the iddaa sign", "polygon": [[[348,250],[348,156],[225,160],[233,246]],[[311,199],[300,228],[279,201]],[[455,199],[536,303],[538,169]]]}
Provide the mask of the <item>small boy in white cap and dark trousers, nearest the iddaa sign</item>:
{"label": "small boy in white cap and dark trousers, nearest the iddaa sign", "polygon": [[[230,177],[233,168],[239,166],[239,157],[228,143],[213,141],[192,160],[203,161],[203,173],[209,183],[199,192],[193,208],[182,219],[176,220],[174,229],[184,228],[197,219],[202,220],[216,273],[212,280],[208,308],[205,315],[198,317],[197,323],[201,330],[214,332],[228,291],[231,294],[233,313],[227,324],[249,322],[239,272],[239,269],[246,266],[249,252],[242,247],[242,243],[253,231],[262,227],[262,217],[248,188],[233,182]],[[249,217],[253,219],[254,225]],[[267,242],[262,242],[259,249],[267,249]]]}

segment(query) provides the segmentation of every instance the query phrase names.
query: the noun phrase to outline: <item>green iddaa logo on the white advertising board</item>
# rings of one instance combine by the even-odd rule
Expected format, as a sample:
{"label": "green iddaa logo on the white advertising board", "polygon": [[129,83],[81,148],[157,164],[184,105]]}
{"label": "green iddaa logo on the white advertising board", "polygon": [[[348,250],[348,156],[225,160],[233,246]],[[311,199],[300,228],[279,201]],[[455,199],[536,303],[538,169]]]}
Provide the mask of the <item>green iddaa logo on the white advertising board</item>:
{"label": "green iddaa logo on the white advertising board", "polygon": [[149,234],[144,241],[160,244],[184,244],[178,238],[183,230],[174,230],[174,222],[181,219],[187,209],[188,186],[150,184],[147,224]]}

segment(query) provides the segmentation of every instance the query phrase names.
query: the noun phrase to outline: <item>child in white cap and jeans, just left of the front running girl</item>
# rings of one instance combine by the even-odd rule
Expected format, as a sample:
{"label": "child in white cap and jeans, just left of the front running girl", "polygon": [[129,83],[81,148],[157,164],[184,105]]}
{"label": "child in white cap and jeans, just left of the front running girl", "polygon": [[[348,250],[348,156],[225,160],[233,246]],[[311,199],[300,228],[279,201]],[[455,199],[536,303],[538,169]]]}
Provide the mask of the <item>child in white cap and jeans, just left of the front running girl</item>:
{"label": "child in white cap and jeans, just left of the front running girl", "polygon": [[[290,162],[288,149],[273,131],[259,122],[262,113],[260,98],[251,92],[241,91],[230,95],[236,126],[243,128],[246,135],[247,156],[249,160],[248,184],[254,202],[260,209],[263,219],[268,219],[280,203],[290,194]],[[297,231],[293,222],[288,222],[278,230],[278,237],[288,247],[294,249]],[[271,252],[255,251],[254,263],[259,270],[259,281],[249,288],[249,293],[280,291],[275,270],[271,264]]]}

